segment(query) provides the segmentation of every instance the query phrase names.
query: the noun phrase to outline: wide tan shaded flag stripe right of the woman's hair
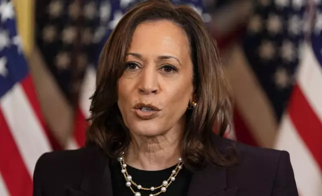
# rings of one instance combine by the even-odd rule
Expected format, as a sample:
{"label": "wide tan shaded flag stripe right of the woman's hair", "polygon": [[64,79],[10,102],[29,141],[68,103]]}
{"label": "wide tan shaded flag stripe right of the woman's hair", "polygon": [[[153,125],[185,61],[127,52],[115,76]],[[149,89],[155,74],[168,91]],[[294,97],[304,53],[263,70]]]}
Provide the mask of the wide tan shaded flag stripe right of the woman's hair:
{"label": "wide tan shaded flag stripe right of the woman's hair", "polygon": [[249,67],[241,47],[236,44],[231,52],[231,60],[225,70],[240,116],[258,145],[272,147],[277,122],[268,97]]}

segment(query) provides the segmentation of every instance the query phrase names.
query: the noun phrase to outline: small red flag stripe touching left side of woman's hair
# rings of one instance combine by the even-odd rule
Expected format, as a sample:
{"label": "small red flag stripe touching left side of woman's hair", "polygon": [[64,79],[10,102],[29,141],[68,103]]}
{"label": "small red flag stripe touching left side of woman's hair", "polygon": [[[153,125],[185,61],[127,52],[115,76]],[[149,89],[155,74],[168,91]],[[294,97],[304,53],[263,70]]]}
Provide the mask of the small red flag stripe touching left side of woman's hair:
{"label": "small red flag stripe touching left side of woman's hair", "polygon": [[81,112],[79,106],[76,110],[75,116],[75,124],[74,124],[74,138],[79,146],[83,146],[85,144],[85,131],[88,127],[87,121],[85,120],[85,116]]}

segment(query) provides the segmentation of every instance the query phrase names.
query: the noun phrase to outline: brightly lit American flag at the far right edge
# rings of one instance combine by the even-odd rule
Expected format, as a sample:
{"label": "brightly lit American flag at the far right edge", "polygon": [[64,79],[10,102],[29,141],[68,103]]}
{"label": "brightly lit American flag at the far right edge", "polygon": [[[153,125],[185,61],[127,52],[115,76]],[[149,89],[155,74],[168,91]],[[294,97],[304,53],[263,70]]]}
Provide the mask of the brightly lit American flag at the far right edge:
{"label": "brightly lit American flag at the far right edge", "polygon": [[310,1],[308,6],[313,26],[301,48],[275,147],[290,153],[299,193],[317,196],[322,195],[322,3]]}

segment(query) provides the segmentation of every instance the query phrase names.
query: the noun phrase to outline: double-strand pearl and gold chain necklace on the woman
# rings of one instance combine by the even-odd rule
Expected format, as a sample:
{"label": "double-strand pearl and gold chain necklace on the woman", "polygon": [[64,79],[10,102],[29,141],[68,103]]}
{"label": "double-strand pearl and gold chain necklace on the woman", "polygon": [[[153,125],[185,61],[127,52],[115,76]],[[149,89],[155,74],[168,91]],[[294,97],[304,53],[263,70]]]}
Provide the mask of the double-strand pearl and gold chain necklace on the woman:
{"label": "double-strand pearl and gold chain necklace on the woman", "polygon": [[182,158],[179,157],[178,158],[178,163],[177,163],[176,167],[171,171],[171,175],[169,176],[169,178],[167,178],[167,180],[163,180],[162,181],[162,184],[159,185],[159,186],[157,186],[157,187],[151,186],[149,188],[144,188],[144,187],[142,187],[142,185],[136,184],[132,180],[132,176],[127,173],[126,163],[124,162],[123,155],[120,156],[120,157],[118,157],[117,160],[119,161],[119,163],[120,163],[120,165],[122,167],[121,173],[123,173],[124,178],[126,180],[125,185],[131,189],[131,191],[134,193],[134,196],[141,196],[141,193],[138,192],[138,191],[135,192],[131,185],[136,186],[137,189],[150,190],[150,191],[154,191],[154,190],[157,190],[157,189],[161,188],[160,191],[158,191],[156,193],[151,193],[151,194],[149,194],[149,196],[155,196],[155,195],[158,195],[158,194],[160,194],[162,192],[165,192],[166,191],[166,188],[171,184],[172,181],[175,180],[175,176],[182,169],[182,165],[183,165]]}

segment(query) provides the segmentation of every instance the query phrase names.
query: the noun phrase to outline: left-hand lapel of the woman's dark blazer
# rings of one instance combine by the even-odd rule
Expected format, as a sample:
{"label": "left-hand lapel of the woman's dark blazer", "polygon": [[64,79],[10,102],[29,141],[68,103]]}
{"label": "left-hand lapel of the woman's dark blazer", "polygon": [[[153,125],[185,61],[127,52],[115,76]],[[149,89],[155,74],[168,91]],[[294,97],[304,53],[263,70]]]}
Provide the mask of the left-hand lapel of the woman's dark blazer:
{"label": "left-hand lapel of the woman's dark blazer", "polygon": [[112,196],[109,159],[96,148],[89,164],[86,165],[79,190],[69,188],[70,196]]}

